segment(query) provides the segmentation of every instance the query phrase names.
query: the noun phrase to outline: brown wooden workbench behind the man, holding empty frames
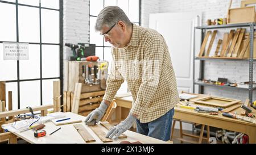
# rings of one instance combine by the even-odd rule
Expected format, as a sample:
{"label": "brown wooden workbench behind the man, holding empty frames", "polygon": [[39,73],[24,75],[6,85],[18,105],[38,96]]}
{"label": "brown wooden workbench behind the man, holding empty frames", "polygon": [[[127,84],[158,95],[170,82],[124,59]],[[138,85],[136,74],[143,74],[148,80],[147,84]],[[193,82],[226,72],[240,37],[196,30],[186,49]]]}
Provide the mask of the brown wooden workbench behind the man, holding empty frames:
{"label": "brown wooden workbench behind the man, holding empty frames", "polygon": [[[199,96],[199,98],[202,95]],[[115,98],[117,103],[117,111],[115,111],[115,122],[119,122],[126,118],[129,108],[131,108],[131,103],[133,98],[120,97]],[[253,114],[256,115],[256,110],[253,110]],[[240,114],[241,108],[237,108],[234,111]],[[209,125],[211,127],[217,127],[222,129],[228,129],[230,131],[242,132],[249,136],[249,143],[256,143],[256,124],[244,122],[238,119],[227,118],[222,116],[221,112],[218,115],[209,115],[208,113],[196,112],[187,108],[175,107],[174,119],[184,120],[186,122],[193,122],[199,124]]]}

